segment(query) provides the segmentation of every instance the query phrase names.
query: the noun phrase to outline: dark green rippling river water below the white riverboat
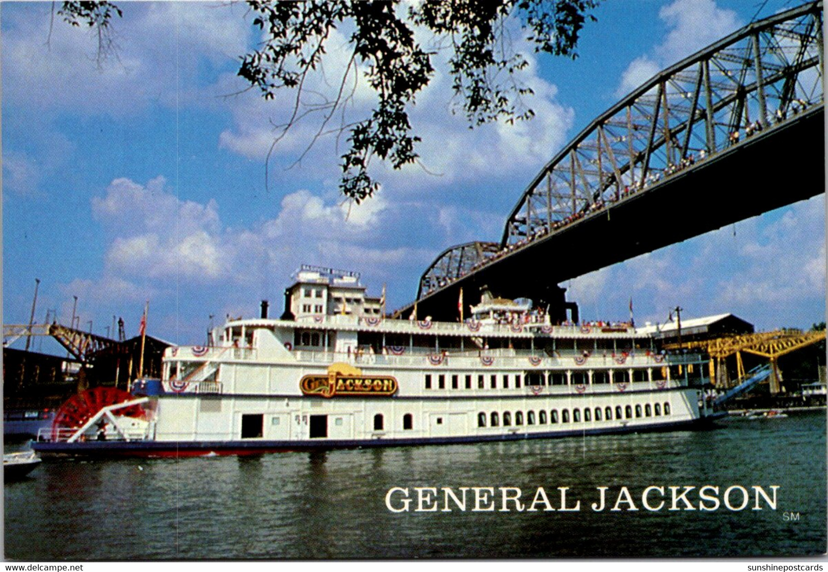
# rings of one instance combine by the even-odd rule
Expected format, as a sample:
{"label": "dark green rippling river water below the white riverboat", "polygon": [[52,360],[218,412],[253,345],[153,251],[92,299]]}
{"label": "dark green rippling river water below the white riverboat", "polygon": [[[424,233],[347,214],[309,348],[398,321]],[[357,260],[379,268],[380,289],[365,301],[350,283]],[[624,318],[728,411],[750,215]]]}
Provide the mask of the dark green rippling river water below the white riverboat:
{"label": "dark green rippling river water below the white riverboat", "polygon": [[[602,558],[815,555],[826,551],[825,410],[782,419],[726,419],[720,429],[252,458],[47,460],[5,485],[12,560]],[[698,488],[720,487],[715,511]],[[751,487],[772,494],[773,510]],[[648,502],[662,510],[647,511]],[[696,510],[672,492],[686,495]],[[749,492],[741,511],[724,491]],[[409,511],[386,494],[409,489]],[[415,511],[414,487],[493,487],[494,511]],[[500,487],[500,488],[498,488]],[[529,508],[543,487],[549,506]],[[561,511],[580,501],[579,511]],[[609,487],[603,511],[597,487]],[[624,502],[621,487],[628,487]],[[488,507],[486,493],[481,507]],[[508,496],[517,492],[508,490]],[[445,508],[440,492],[438,508]],[[619,495],[622,502],[617,502]],[[710,496],[710,489],[708,489]],[[462,500],[460,498],[460,500]],[[743,497],[733,489],[728,501]],[[618,511],[611,511],[618,505]],[[715,503],[706,502],[712,507]],[[402,492],[392,507],[404,506]],[[628,510],[632,507],[638,511]],[[424,508],[430,507],[428,499]]]}

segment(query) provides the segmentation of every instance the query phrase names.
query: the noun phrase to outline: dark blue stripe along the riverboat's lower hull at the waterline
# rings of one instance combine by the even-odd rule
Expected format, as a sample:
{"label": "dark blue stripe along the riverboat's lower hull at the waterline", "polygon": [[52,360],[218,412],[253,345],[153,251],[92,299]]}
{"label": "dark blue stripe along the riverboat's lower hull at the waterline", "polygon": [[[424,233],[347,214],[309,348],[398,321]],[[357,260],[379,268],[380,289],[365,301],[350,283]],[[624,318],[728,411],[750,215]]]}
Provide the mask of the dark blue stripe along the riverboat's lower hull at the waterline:
{"label": "dark blue stripe along the riverboat's lower hull at the waterline", "polygon": [[[716,416],[718,417],[718,416]],[[401,447],[407,445],[479,443],[485,441],[520,441],[526,439],[556,439],[580,435],[647,433],[672,431],[676,429],[700,429],[710,427],[715,418],[701,417],[685,421],[635,425],[632,427],[605,427],[591,429],[568,429],[539,433],[508,433],[496,435],[465,435],[460,437],[416,437],[412,439],[304,439],[295,441],[265,441],[245,439],[238,441],[85,441],[82,443],[35,442],[31,448],[38,453],[65,453],[71,455],[105,455],[123,453],[152,455],[161,451],[205,451],[243,449],[251,453],[272,450],[322,450],[335,448]]]}

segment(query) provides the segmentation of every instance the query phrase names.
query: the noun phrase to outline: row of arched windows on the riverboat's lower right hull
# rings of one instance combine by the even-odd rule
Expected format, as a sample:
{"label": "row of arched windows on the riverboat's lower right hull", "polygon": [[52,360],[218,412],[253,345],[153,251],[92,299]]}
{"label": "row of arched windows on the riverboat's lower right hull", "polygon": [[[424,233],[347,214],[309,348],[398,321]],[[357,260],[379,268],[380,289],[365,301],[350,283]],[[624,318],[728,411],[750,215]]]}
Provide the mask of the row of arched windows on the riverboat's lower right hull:
{"label": "row of arched windows on the riverboat's lower right hull", "polygon": [[633,405],[626,405],[623,408],[621,405],[616,405],[614,410],[609,405],[604,407],[604,409],[596,407],[595,410],[592,410],[589,407],[585,407],[583,410],[580,410],[575,407],[571,410],[571,414],[568,409],[561,410],[560,415],[558,410],[551,410],[548,418],[545,410],[538,411],[537,417],[534,411],[527,411],[525,418],[522,411],[515,411],[514,416],[511,411],[503,411],[503,414],[498,411],[492,411],[489,414],[485,411],[480,411],[480,413],[477,414],[477,426],[486,427],[488,424],[489,427],[498,427],[501,424],[501,419],[503,419],[503,427],[508,427],[512,424],[522,425],[524,424],[524,420],[527,425],[534,425],[536,422],[538,425],[545,425],[547,419],[549,419],[549,423],[552,424],[559,422],[570,423],[570,421],[572,423],[580,423],[582,413],[584,421],[592,421],[593,419],[595,419],[595,421],[612,421],[613,419],[633,419],[633,412],[635,418],[652,417],[653,415],[658,417],[662,414],[669,415],[670,404],[667,402],[665,402],[664,405],[660,403],[655,405],[647,403],[643,407],[639,404],[635,405],[634,409]]}

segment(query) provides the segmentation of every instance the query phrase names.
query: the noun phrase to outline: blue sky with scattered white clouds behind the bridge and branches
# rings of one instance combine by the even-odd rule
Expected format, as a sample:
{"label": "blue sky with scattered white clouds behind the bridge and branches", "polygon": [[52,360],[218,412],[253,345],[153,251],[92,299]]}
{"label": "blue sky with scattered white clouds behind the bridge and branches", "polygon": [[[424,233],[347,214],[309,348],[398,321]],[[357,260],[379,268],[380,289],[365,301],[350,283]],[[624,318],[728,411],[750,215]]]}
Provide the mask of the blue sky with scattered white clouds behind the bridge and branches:
{"label": "blue sky with scattered white clouds behind the bridge and branches", "polygon": [[[438,71],[412,111],[422,166],[378,165],[378,196],[349,206],[335,138],[302,156],[314,121],[274,148],[265,189],[291,95],[238,94],[238,57],[257,37],[243,4],[123,2],[118,51],[96,61],[89,32],[55,22],[50,36],[50,2],[3,3],[3,322],[28,322],[39,278],[36,321],[53,309],[68,323],[78,296],[84,329],[105,334],[122,316],[131,336],[148,299],[148,332],[200,343],[210,315],[253,316],[262,298],[281,313],[302,263],[359,270],[369,293],[387,283],[388,308],[402,306],[442,250],[499,240],[528,182],[597,114],[760,7],[796,4],[604,2],[577,60],[532,56],[537,116],[517,127],[469,130]],[[343,67],[345,51],[329,52],[320,90]],[[370,97],[359,87],[354,109]],[[585,319],[625,318],[632,297],[637,322],[680,304],[687,317],[809,327],[825,319],[824,195],[563,285]]]}

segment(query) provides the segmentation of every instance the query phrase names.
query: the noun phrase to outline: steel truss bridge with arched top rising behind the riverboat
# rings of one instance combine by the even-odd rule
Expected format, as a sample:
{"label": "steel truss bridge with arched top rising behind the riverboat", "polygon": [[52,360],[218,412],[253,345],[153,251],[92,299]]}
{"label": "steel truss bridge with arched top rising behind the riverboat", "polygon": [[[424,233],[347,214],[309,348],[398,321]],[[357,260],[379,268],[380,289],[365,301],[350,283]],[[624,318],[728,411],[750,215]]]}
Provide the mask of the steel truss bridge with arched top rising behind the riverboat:
{"label": "steel truss bridge with arched top rising behind the riverboat", "polygon": [[652,77],[542,168],[499,243],[445,250],[395,315],[455,320],[460,288],[468,315],[488,287],[565,319],[556,284],[824,192],[822,12],[753,22]]}

